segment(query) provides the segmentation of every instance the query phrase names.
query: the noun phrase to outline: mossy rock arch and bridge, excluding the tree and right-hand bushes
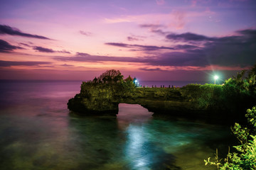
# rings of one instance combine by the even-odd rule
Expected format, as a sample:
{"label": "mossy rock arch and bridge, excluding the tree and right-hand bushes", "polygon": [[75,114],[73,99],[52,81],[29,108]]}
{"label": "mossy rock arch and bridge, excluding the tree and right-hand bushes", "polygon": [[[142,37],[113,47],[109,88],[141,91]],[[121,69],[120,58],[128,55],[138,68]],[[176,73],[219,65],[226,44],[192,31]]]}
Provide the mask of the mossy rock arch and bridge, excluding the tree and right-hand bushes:
{"label": "mossy rock arch and bridge, excluding the tree and right-hand bushes", "polygon": [[183,88],[134,88],[125,82],[117,84],[85,83],[80,94],[68,101],[70,111],[84,115],[116,115],[119,103],[139,104],[154,115],[206,116],[208,108],[195,102],[193,91]]}

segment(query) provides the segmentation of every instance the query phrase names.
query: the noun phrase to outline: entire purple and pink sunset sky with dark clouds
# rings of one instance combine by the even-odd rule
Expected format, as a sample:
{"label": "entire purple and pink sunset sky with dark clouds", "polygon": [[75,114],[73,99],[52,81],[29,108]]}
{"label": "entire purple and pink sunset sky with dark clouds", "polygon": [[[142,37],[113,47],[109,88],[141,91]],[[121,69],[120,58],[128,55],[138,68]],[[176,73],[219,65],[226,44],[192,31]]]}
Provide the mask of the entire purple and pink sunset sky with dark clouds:
{"label": "entire purple and pink sunset sky with dark clouds", "polygon": [[256,64],[255,0],[1,0],[0,79],[228,79]]}

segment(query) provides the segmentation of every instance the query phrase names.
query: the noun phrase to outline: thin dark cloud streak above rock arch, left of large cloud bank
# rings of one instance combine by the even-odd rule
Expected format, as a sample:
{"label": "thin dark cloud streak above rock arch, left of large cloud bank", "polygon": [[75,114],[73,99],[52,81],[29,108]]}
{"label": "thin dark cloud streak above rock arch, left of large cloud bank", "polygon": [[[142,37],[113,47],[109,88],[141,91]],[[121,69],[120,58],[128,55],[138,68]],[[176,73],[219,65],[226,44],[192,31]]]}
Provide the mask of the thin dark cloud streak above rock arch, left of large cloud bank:
{"label": "thin dark cloud streak above rock arch, left of large cloud bank", "polygon": [[118,42],[106,42],[105,45],[112,45],[117,47],[137,48],[137,50],[154,51],[154,50],[174,50],[174,47],[154,46],[154,45],[129,45]]}

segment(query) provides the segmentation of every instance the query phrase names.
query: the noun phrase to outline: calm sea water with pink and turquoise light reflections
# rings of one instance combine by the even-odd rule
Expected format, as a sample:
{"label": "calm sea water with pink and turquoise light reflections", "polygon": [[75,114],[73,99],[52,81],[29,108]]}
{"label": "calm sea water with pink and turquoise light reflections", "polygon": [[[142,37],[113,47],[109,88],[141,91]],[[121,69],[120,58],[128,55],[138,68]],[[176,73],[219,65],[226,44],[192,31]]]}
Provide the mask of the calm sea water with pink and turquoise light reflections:
{"label": "calm sea water with pink and turquoise light reflections", "polygon": [[119,104],[117,118],[73,115],[80,84],[0,81],[1,170],[215,169],[203,159],[233,140],[229,127],[156,119],[139,105]]}

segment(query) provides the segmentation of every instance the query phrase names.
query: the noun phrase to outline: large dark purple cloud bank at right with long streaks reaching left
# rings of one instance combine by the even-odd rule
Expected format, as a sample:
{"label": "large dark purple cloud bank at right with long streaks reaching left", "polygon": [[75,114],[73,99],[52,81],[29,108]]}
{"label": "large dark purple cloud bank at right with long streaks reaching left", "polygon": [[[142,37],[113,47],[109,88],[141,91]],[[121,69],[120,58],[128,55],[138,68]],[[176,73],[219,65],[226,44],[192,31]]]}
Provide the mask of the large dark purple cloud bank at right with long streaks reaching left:
{"label": "large dark purple cloud bank at right with long streaks reaching left", "polygon": [[[220,38],[211,38],[195,33],[175,34],[171,38],[181,44],[174,45],[174,47],[106,43],[106,45],[125,47],[131,50],[145,50],[147,55],[144,57],[110,57],[78,52],[74,57],[55,57],[54,59],[65,62],[134,62],[156,68],[163,66],[209,68],[215,65],[237,70],[250,67],[256,63],[256,30],[238,30],[235,34]],[[170,51],[166,52],[162,49]]]}

